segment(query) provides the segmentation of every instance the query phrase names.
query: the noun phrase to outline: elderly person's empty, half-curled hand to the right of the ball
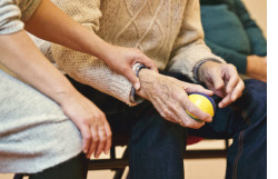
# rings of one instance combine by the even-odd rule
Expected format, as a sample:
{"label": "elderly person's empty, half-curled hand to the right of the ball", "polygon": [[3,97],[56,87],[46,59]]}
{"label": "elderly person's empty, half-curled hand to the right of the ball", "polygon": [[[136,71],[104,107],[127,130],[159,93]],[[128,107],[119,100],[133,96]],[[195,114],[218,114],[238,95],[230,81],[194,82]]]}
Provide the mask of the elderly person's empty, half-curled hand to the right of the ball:
{"label": "elderly person's empty, half-curled hand to the right of the ball", "polygon": [[199,81],[203,82],[215,95],[222,98],[218,107],[224,108],[241,97],[245,83],[235,66],[207,61],[198,70]]}

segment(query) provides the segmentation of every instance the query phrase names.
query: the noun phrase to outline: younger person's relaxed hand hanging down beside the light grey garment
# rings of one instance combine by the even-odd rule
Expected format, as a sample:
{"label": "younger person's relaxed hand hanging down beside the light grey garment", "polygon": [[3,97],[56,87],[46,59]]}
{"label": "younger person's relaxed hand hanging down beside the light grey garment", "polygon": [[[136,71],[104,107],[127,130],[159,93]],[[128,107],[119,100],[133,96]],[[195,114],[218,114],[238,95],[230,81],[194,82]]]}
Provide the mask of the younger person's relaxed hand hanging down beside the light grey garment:
{"label": "younger person's relaxed hand hanging down beside the light grey garment", "polygon": [[59,103],[72,122],[80,130],[82,136],[82,150],[87,158],[92,153],[98,158],[103,151],[108,155],[112,132],[106,119],[106,115],[90,100],[79,92],[61,95]]}

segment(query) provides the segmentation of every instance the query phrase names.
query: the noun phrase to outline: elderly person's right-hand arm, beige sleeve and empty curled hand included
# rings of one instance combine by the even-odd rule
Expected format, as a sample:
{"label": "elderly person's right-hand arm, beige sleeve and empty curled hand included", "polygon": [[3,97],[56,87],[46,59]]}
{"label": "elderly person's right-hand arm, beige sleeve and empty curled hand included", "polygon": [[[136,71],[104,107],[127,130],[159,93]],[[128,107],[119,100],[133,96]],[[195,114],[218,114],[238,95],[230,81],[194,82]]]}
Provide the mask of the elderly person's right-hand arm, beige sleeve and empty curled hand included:
{"label": "elderly person's right-hand arm, beige sleeve and empty curled hand included", "polygon": [[241,96],[244,82],[235,66],[212,54],[205,44],[199,1],[188,0],[183,17],[170,70],[183,72],[191,79],[195,76],[195,81],[203,82],[215,95],[222,97],[219,108],[224,108]]}

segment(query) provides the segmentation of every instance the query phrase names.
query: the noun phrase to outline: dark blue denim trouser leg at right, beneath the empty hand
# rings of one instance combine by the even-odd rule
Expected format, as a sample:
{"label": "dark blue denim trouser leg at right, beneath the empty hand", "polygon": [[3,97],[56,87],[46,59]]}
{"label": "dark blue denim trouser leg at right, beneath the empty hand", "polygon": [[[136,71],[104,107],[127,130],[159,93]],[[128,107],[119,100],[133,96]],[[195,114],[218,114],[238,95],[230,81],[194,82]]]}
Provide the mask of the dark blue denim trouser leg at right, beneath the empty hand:
{"label": "dark blue denim trouser leg at right, beneath the empty hand", "polygon": [[[267,83],[245,80],[242,97],[231,106],[219,109],[211,123],[192,136],[210,139],[229,139],[226,179],[267,178]],[[219,98],[215,97],[216,101]]]}

